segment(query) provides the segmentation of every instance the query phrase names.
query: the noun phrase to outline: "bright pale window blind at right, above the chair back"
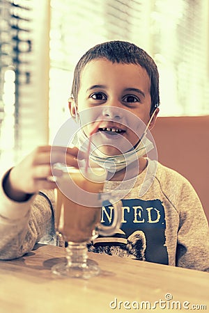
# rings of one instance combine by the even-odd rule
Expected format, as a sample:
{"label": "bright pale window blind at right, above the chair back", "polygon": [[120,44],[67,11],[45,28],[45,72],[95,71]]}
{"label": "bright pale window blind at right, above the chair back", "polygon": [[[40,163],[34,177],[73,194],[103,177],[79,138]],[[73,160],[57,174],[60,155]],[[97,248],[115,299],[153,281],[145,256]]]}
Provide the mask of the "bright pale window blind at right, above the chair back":
{"label": "bright pale window blind at right, above the chair back", "polygon": [[164,115],[209,114],[208,13],[207,0],[155,1],[153,55]]}

